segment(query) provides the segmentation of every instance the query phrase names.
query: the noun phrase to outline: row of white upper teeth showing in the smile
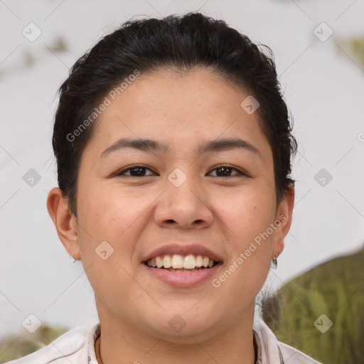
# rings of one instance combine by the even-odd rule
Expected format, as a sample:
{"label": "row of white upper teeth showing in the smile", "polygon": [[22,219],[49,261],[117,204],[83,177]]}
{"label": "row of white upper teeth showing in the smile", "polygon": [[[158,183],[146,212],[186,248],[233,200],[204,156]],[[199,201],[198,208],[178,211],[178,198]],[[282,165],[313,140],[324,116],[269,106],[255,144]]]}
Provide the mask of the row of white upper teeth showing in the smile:
{"label": "row of white upper teeth showing in the smile", "polygon": [[197,255],[196,257],[192,254],[183,255],[161,255],[155,258],[149,259],[146,264],[149,267],[157,268],[175,268],[175,269],[194,269],[195,267],[213,267],[213,259],[208,257],[203,257],[202,255]]}

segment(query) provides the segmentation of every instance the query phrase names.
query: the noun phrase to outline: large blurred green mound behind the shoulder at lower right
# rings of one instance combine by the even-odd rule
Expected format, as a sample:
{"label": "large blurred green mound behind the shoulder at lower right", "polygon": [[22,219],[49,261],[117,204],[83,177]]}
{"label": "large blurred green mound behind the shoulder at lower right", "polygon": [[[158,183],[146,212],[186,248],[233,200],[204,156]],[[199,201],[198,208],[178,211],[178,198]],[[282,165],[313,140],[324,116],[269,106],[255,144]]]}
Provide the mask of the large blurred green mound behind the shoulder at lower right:
{"label": "large blurred green mound behind the shoulder at lower right", "polygon": [[[325,317],[314,325],[321,314],[331,328]],[[321,363],[364,363],[364,249],[292,279],[264,301],[263,319],[280,341]]]}

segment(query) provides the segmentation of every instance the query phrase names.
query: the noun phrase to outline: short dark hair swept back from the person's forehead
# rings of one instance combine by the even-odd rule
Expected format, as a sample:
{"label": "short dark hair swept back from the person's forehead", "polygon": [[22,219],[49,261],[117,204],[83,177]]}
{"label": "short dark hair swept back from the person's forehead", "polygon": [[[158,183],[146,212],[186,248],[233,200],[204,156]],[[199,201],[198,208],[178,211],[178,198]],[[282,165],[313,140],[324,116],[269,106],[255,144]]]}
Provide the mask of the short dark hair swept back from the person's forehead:
{"label": "short dark hair swept back from the person's forehead", "polygon": [[188,13],[127,21],[82,55],[60,86],[53,151],[58,186],[75,216],[80,158],[95,129],[90,115],[107,92],[136,70],[148,73],[160,68],[188,71],[199,67],[243,87],[259,102],[257,112],[274,159],[277,202],[282,199],[294,183],[289,176],[296,139],[272,50],[252,43],[225,21]]}

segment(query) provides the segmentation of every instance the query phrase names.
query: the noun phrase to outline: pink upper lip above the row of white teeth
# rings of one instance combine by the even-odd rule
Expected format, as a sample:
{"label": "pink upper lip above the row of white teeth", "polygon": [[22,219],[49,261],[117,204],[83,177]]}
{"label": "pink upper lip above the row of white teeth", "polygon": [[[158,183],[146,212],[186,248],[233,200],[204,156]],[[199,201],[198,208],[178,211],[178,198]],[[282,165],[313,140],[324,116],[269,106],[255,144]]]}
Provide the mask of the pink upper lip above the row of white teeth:
{"label": "pink upper lip above the row of white teeth", "polygon": [[222,262],[222,258],[212,252],[207,247],[204,247],[203,245],[199,244],[191,244],[191,245],[181,245],[181,244],[168,244],[163,245],[162,247],[159,247],[152,252],[150,252],[148,255],[146,255],[142,262],[147,262],[151,258],[155,258],[161,255],[202,255],[203,257],[208,257],[209,259],[213,259],[215,262]]}

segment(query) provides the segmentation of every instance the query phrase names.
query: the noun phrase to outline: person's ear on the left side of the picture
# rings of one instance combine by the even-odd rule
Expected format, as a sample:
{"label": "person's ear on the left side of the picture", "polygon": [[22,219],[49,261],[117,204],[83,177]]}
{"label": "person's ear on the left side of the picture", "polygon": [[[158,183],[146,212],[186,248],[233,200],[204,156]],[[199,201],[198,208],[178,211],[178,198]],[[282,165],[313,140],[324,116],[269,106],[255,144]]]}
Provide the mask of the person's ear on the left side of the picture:
{"label": "person's ear on the left side of the picture", "polygon": [[52,188],[48,193],[47,209],[65,250],[73,259],[80,260],[77,220],[68,208],[67,200],[63,197],[60,188]]}

